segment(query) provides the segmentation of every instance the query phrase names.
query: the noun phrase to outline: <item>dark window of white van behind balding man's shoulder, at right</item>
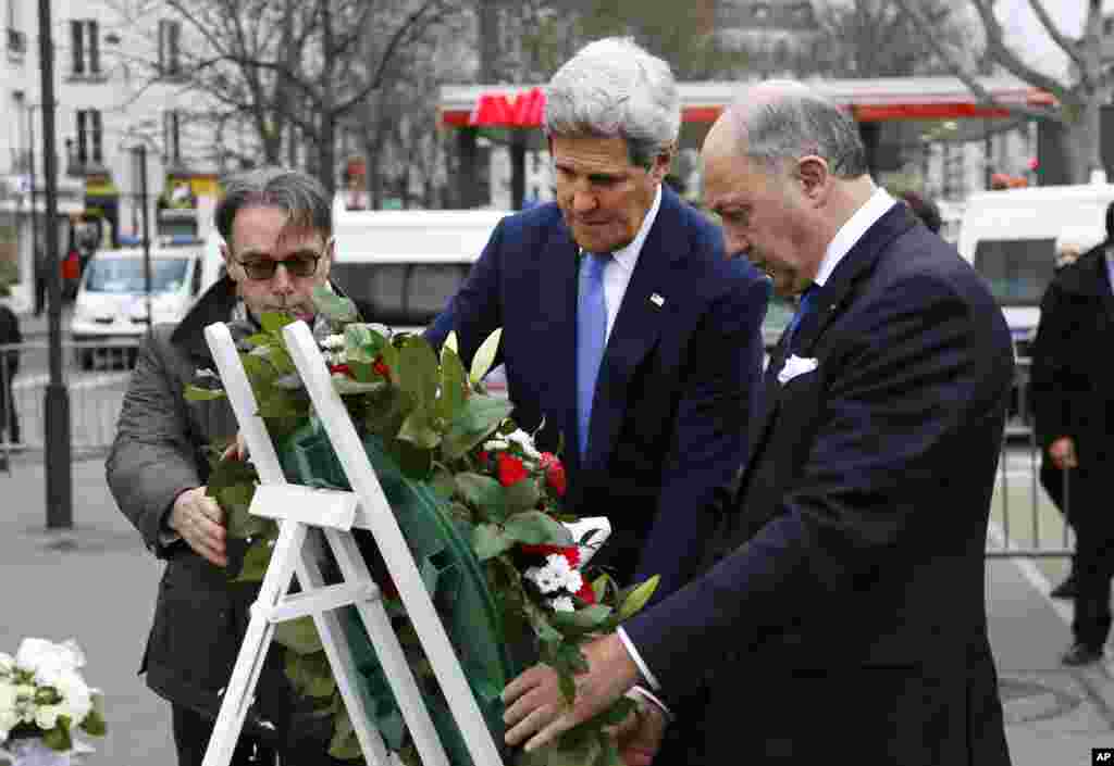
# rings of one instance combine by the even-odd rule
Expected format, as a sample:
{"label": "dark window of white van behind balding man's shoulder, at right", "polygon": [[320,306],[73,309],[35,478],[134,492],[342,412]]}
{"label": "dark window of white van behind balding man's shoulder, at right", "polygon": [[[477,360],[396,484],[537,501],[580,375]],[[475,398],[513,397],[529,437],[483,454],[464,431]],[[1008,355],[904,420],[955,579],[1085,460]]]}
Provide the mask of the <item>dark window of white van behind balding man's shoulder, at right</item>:
{"label": "dark window of white van behind balding man's shoulder, at right", "polygon": [[984,239],[975,248],[975,271],[1000,306],[1037,306],[1052,282],[1055,239]]}

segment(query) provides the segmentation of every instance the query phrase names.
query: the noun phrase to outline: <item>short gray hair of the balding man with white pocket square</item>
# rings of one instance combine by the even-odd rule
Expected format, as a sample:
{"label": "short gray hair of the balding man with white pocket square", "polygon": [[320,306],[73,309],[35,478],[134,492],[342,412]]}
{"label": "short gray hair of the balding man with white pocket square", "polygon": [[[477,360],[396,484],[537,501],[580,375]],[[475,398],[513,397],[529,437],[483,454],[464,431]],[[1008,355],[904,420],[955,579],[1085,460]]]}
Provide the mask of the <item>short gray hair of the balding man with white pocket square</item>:
{"label": "short gray hair of the balding man with white pocket square", "polygon": [[764,87],[775,89],[769,99],[735,102],[747,156],[774,169],[784,160],[817,155],[828,160],[838,178],[869,173],[859,126],[850,116],[800,82],[773,81]]}

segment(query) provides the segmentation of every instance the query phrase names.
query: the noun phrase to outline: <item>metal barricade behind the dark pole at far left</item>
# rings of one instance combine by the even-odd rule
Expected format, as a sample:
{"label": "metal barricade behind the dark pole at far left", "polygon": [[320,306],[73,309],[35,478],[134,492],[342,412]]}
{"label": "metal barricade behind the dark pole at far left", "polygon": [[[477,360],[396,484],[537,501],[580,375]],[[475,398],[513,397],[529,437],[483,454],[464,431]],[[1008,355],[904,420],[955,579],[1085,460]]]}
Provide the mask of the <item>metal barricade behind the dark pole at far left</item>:
{"label": "metal barricade behind the dark pole at far left", "polygon": [[[69,392],[70,450],[75,456],[105,453],[127,389],[138,341],[62,344],[62,379]],[[45,342],[0,345],[0,458],[46,448],[46,389],[50,382]]]}

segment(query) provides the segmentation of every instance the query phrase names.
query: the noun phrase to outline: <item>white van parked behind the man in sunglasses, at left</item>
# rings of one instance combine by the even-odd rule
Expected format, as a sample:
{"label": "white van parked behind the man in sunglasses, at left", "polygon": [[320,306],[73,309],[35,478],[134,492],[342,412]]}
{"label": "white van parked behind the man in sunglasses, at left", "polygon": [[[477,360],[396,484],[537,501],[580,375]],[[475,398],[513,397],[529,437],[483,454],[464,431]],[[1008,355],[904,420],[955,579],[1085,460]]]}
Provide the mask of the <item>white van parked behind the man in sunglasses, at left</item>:
{"label": "white van parked behind the man in sunglasses, at left", "polygon": [[[178,322],[193,306],[202,288],[203,251],[201,243],[150,248],[154,323]],[[92,365],[94,344],[137,341],[147,327],[143,248],[98,251],[81,274],[70,321],[81,365]]]}

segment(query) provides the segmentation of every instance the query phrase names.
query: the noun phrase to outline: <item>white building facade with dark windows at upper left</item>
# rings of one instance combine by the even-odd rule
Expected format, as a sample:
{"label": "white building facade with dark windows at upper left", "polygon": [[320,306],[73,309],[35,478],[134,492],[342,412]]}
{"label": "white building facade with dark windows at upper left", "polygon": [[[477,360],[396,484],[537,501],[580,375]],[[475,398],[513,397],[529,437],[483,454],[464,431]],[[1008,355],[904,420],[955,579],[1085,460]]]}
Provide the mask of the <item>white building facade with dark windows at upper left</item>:
{"label": "white building facade with dark windows at upper left", "polygon": [[[145,208],[153,238],[204,235],[217,167],[212,131],[190,119],[198,96],[175,80],[180,22],[158,3],[133,16],[110,0],[51,6],[59,256],[137,242]],[[27,311],[46,230],[38,3],[0,0],[0,261]]]}

